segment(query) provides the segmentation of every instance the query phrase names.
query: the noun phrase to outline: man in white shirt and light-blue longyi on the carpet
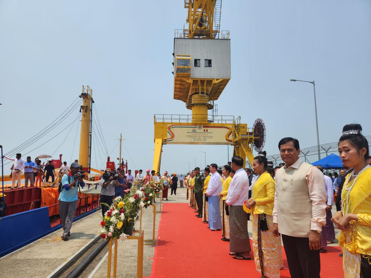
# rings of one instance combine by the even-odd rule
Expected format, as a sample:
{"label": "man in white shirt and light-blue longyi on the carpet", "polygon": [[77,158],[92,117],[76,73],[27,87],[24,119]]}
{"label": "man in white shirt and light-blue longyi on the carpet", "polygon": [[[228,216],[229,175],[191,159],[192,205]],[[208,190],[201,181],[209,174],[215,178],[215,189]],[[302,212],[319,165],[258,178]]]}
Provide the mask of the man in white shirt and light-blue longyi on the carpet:
{"label": "man in white shirt and light-blue longyi on the carpet", "polygon": [[[221,176],[217,172],[218,165],[210,164],[210,180],[207,186],[206,195],[209,197],[209,226],[211,231],[221,229],[220,198],[219,192],[222,190]],[[201,208],[200,208],[201,209]]]}

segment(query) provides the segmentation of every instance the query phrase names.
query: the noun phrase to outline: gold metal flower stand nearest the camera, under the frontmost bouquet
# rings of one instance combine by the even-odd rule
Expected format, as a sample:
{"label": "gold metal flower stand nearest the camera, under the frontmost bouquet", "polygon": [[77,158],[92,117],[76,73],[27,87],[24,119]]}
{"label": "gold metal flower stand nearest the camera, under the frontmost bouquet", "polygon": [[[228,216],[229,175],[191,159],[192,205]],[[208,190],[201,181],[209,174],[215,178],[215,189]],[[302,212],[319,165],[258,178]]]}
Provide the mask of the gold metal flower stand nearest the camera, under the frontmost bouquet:
{"label": "gold metal flower stand nearest the camera, under the frontmost bouquet", "polygon": [[[138,234],[138,235],[134,235]],[[144,231],[142,230],[134,230],[133,235],[128,236],[128,239],[137,239],[138,240],[138,262],[137,262],[137,278],[143,277],[143,238],[144,238]],[[112,257],[112,240],[109,241],[108,246],[108,269],[107,269],[107,278],[111,278],[111,257]],[[117,238],[114,239],[115,241],[115,250],[114,250],[114,276],[116,278],[116,270],[117,270]]]}

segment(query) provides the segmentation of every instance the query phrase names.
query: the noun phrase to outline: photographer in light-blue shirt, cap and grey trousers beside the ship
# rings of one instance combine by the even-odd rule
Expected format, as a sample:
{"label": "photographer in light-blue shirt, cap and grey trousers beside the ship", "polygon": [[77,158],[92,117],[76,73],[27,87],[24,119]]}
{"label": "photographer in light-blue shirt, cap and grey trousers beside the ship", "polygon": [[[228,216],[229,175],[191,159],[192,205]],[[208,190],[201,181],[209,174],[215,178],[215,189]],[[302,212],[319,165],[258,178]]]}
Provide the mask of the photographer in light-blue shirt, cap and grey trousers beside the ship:
{"label": "photographer in light-blue shirt, cap and grey trousers beside the ship", "polygon": [[62,239],[68,241],[72,227],[73,215],[77,208],[77,191],[80,186],[83,188],[85,182],[82,175],[79,175],[79,163],[73,162],[70,166],[70,172],[62,177],[62,191],[59,194],[59,216],[62,221],[63,234]]}

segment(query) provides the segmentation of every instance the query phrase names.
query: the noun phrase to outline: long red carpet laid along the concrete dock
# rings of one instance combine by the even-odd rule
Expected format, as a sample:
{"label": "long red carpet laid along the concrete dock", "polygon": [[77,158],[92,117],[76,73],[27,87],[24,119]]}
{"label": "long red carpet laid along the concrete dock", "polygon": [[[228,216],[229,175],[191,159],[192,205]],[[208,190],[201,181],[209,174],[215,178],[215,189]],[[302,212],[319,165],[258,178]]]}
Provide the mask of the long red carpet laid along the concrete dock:
{"label": "long red carpet laid along the concrete dock", "polygon": [[[221,231],[207,229],[193,211],[187,203],[164,204],[150,277],[260,278],[255,262],[232,259],[229,242],[220,240]],[[321,254],[321,277],[344,277],[338,256],[341,249],[329,246],[327,250]],[[287,278],[290,274],[284,252],[283,260],[286,269],[280,273]]]}

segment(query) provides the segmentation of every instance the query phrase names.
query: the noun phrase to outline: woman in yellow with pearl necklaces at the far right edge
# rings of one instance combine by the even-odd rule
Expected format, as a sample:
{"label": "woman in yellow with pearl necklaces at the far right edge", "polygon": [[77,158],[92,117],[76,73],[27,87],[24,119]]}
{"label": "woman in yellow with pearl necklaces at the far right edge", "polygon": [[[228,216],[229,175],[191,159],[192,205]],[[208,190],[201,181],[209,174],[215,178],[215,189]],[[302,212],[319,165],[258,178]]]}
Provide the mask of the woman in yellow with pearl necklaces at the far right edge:
{"label": "woman in yellow with pearl necklaces at the far right edge", "polygon": [[361,125],[345,125],[339,140],[339,155],[349,173],[341,193],[342,210],[331,218],[341,230],[345,278],[371,277],[371,167],[367,139]]}

